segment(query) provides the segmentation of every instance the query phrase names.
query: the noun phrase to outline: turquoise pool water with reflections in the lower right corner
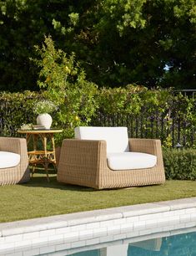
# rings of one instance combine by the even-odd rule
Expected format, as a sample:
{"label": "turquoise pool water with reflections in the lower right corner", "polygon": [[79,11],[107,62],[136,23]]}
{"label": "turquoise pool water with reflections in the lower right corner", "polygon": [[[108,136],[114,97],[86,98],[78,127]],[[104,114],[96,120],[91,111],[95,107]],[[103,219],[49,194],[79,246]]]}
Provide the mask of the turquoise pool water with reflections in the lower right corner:
{"label": "turquoise pool water with reflections in the lower right corner", "polygon": [[70,256],[196,256],[196,232],[86,250]]}

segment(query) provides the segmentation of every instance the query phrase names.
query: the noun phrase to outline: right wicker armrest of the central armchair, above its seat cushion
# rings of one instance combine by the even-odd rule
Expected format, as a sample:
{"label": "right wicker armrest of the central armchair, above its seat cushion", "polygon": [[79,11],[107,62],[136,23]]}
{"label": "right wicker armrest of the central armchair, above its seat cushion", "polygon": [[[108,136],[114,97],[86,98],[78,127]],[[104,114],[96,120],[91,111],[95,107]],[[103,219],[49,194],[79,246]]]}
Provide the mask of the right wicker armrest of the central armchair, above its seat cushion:
{"label": "right wicker armrest of the central armchair, above its seat cushion", "polygon": [[128,139],[130,151],[158,156],[161,154],[161,141],[154,139]]}

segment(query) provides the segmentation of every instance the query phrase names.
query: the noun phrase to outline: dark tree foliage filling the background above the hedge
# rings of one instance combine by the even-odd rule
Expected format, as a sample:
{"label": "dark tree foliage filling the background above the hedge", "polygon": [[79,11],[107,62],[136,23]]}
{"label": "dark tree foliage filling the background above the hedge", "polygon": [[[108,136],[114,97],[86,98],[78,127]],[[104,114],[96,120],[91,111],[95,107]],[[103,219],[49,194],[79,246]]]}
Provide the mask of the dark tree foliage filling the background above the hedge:
{"label": "dark tree foliage filling the background above the hedge", "polygon": [[36,89],[48,34],[100,86],[193,89],[195,24],[194,0],[0,1],[0,90]]}

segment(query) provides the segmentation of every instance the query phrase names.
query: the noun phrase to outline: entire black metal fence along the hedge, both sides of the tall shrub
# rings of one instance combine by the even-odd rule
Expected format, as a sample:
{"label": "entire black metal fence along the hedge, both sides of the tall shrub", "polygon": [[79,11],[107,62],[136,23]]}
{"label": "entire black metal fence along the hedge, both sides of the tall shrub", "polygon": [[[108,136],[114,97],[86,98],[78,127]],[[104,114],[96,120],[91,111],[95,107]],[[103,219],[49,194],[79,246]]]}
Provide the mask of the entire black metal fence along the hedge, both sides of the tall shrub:
{"label": "entire black metal fence along the hedge, both sides of the tall shrub", "polygon": [[[112,115],[100,108],[90,125],[127,126],[129,137],[158,138],[165,146],[174,147],[180,143],[182,146],[196,147],[196,90],[175,90],[171,99],[168,108],[163,111],[143,105],[138,115]],[[190,111],[194,118],[188,115],[187,99],[192,99]],[[30,100],[26,104],[31,106]],[[24,107],[14,100],[0,100],[0,136],[18,136],[20,125],[32,122],[33,118],[32,107]]]}

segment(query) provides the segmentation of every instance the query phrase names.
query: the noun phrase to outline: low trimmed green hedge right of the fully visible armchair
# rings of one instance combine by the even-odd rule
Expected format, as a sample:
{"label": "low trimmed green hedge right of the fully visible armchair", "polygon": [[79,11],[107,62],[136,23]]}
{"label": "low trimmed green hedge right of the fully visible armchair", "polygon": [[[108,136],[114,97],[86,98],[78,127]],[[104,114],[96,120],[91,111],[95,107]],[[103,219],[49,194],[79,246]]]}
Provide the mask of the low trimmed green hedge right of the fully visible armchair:
{"label": "low trimmed green hedge right of the fully visible armchair", "polygon": [[196,180],[196,150],[163,149],[163,162],[167,179]]}

